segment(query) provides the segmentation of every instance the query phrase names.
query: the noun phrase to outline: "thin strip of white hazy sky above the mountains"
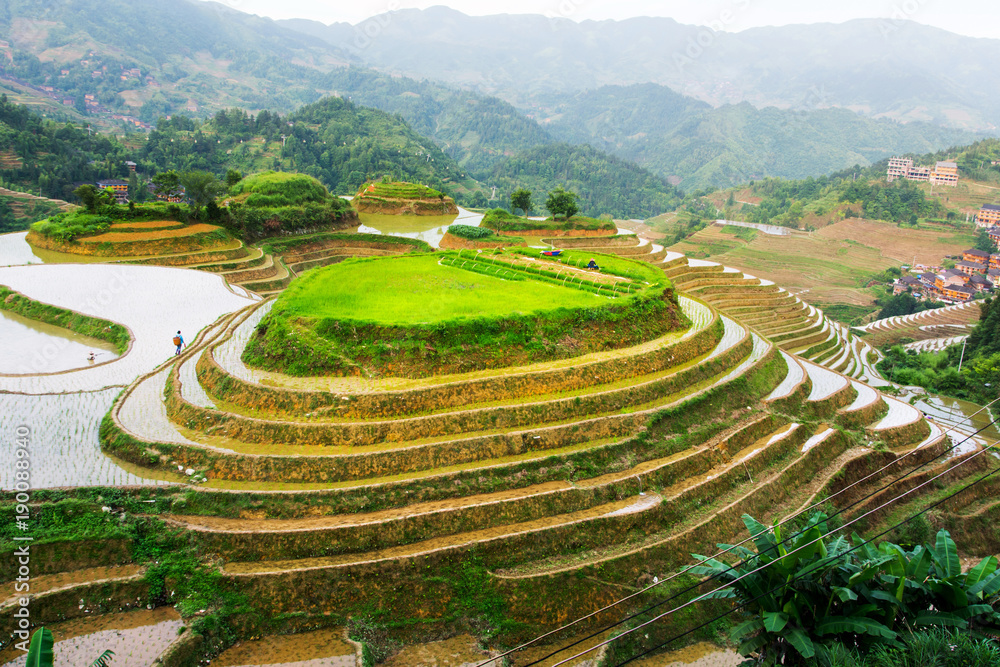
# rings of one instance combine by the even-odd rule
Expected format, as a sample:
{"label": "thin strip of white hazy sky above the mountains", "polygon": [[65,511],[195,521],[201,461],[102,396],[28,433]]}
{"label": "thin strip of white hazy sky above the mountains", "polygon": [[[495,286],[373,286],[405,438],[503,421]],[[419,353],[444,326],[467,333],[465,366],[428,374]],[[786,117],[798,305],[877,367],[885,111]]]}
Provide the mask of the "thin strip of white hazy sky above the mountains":
{"label": "thin strip of white hazy sky above the mountains", "polygon": [[743,30],[852,18],[909,19],[972,37],[1000,38],[997,0],[218,0],[271,18],[360,23],[395,9],[447,5],[465,14],[543,14],[587,19],[669,16],[696,25]]}

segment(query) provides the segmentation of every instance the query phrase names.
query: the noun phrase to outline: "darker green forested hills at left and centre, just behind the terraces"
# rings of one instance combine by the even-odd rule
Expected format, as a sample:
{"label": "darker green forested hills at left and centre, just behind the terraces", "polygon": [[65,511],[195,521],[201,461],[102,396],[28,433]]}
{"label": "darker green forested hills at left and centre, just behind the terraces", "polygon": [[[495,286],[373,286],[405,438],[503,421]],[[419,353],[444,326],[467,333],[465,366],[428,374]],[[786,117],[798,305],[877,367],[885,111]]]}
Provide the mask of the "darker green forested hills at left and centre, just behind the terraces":
{"label": "darker green forested hills at left and centre, just behind the terraces", "polygon": [[[517,125],[491,124],[493,118],[482,118],[478,136],[502,137]],[[131,135],[127,144],[46,121],[0,97],[0,158],[5,183],[59,199],[72,199],[81,182],[108,177],[130,179],[133,196],[142,197],[142,183],[169,169],[220,177],[229,169],[300,171],[341,194],[390,175],[427,184],[468,206],[506,204],[522,187],[536,191],[540,202],[544,193],[565,186],[580,194],[581,211],[592,216],[647,217],[673,209],[680,199],[663,179],[589,146],[546,145],[513,157],[498,151],[492,168],[473,173],[401,117],[338,97],[287,116],[241,109],[207,121],[177,115],[161,119],[148,136]],[[138,164],[138,175],[130,174],[126,160]],[[26,221],[11,224],[23,227]]]}

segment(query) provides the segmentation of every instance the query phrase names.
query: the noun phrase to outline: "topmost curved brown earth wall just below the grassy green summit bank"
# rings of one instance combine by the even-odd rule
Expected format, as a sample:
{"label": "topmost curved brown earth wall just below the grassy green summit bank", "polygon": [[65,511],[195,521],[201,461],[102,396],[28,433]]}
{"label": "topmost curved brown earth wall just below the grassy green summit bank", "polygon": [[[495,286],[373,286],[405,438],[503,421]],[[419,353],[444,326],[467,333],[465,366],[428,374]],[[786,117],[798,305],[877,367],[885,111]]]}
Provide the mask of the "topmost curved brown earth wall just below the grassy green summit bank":
{"label": "topmost curved brown earth wall just below the grassy green summit bank", "polygon": [[230,376],[212,356],[218,345],[202,355],[197,364],[197,373],[199,382],[209,394],[247,408],[291,414],[325,414],[326,409],[335,408],[329,411],[330,416],[396,417],[468,404],[574,391],[598,382],[656,373],[709,353],[718,345],[722,332],[722,320],[716,315],[711,325],[691,338],[644,354],[549,371],[498,375],[426,389],[352,394],[347,395],[347,401],[344,400],[344,394],[266,387]]}

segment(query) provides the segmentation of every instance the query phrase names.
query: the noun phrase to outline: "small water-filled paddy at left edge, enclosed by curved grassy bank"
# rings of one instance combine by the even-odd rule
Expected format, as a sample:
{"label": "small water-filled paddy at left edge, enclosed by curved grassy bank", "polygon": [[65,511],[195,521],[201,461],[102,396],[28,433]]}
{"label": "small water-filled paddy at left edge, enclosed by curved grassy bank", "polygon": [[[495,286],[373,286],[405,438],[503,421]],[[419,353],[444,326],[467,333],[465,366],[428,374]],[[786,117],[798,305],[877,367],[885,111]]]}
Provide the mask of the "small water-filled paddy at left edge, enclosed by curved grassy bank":
{"label": "small water-filled paddy at left edge, enclosed by curved grassy bank", "polygon": [[[118,358],[115,346],[52,324],[0,311],[0,374],[58,373]],[[90,353],[94,360],[90,361]]]}

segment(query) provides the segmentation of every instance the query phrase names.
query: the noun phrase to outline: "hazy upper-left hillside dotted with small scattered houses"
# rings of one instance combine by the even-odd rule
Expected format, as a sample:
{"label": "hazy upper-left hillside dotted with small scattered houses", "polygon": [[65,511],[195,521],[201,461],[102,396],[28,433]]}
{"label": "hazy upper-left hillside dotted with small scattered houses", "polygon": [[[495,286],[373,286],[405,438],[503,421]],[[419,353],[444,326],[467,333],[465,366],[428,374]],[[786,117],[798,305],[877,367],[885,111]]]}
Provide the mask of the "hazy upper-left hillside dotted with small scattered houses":
{"label": "hazy upper-left hillside dotted with small scattered houses", "polygon": [[[283,111],[317,100],[336,47],[207,2],[0,3],[0,75],[152,122],[223,105]],[[93,108],[93,107],[90,107]]]}

